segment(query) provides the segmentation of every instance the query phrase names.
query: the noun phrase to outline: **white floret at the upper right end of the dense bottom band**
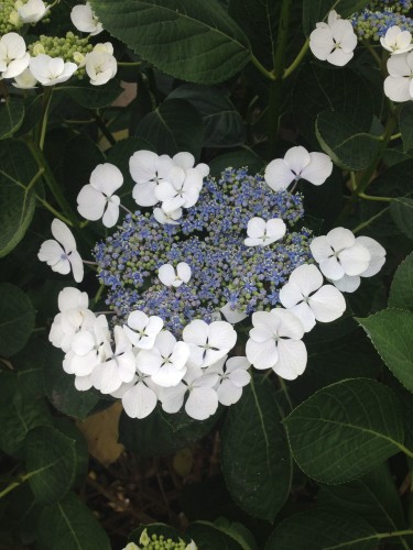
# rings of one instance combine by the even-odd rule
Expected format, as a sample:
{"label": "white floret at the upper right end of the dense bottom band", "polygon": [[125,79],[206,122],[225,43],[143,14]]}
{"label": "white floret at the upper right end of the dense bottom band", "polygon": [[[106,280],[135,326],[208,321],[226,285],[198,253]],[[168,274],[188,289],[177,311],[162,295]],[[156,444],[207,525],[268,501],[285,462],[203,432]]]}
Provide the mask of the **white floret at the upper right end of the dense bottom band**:
{"label": "white floret at the upper right end of the dense bottom band", "polygon": [[227,355],[237,342],[237,332],[227,321],[208,324],[195,319],[184,328],[182,338],[189,345],[188,364],[205,369]]}

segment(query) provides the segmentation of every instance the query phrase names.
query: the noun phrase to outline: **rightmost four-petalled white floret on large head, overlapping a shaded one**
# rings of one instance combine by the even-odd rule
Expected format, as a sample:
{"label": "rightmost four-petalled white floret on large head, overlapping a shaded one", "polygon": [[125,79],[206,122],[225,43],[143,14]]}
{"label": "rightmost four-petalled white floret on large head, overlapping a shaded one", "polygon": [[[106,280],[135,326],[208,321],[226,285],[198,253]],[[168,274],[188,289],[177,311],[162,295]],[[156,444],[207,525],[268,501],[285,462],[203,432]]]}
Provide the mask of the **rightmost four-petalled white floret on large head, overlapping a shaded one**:
{"label": "rightmost four-petalled white floret on large head, overlapping a shaded one", "polygon": [[333,282],[344,275],[360,275],[371,258],[368,249],[345,228],[335,228],[326,235],[316,237],[309,249],[323,275]]}

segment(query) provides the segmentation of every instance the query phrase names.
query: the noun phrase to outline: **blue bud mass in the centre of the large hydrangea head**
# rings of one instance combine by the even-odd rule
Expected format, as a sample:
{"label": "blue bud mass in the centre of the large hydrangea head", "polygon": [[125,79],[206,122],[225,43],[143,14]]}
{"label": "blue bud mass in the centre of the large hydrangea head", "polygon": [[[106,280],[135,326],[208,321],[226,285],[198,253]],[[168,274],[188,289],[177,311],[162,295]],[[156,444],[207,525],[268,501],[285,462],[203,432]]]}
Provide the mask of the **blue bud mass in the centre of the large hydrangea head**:
{"label": "blue bud mass in the centre of the large hydrangea head", "polygon": [[[210,321],[226,304],[251,314],[279,304],[279,288],[291,272],[312,262],[311,232],[287,231],[269,246],[246,246],[248,221],[282,218],[287,227],[304,216],[303,197],[275,193],[260,175],[228,168],[220,179],[204,179],[197,204],[185,210],[178,226],[160,224],[152,213],[128,215],[94,254],[99,280],[108,287],[107,305],[124,321],[140,309],[157,315],[177,338],[193,319]],[[161,265],[186,262],[188,283],[165,286]]]}

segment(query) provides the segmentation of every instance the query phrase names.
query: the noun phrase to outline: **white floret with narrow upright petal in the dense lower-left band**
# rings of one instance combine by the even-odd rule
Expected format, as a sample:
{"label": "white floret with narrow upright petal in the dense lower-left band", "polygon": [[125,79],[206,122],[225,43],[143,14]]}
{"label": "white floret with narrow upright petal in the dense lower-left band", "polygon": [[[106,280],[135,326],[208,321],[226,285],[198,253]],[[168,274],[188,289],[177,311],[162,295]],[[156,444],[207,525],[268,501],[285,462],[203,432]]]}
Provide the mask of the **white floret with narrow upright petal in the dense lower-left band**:
{"label": "white floret with narrow upright petal in the dense lower-left band", "polygon": [[131,382],[135,373],[135,356],[132,344],[121,327],[113,329],[115,353],[109,343],[104,342],[105,362],[96,365],[91,383],[102,394],[116,392],[123,382]]}

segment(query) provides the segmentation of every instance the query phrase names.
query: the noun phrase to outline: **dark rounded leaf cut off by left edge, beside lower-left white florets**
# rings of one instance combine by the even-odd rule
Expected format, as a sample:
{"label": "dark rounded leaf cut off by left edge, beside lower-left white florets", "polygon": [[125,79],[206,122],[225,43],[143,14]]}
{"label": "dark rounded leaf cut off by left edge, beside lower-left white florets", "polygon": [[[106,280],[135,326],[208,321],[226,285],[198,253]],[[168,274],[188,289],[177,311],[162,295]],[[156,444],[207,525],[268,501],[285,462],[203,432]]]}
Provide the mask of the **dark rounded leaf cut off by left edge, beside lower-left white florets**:
{"label": "dark rounded leaf cut off by left edge, beside lower-left white florets", "polygon": [[10,283],[0,284],[0,355],[22,350],[34,329],[35,311],[28,296]]}

